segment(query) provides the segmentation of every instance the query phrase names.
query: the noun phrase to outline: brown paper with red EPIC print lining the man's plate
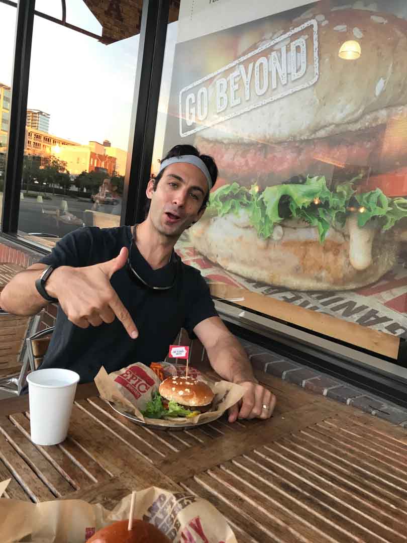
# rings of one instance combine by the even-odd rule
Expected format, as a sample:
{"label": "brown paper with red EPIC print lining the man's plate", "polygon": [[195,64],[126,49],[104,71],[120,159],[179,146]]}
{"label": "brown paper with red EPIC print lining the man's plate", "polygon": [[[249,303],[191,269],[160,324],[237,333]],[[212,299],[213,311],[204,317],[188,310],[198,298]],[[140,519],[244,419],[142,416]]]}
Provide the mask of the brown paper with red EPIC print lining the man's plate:
{"label": "brown paper with red EPIC print lining the man's plate", "polygon": [[[190,370],[196,372],[193,368],[190,368]],[[190,375],[192,375],[192,371]],[[103,399],[115,403],[123,411],[136,415],[137,418],[147,424],[156,426],[183,426],[185,422],[189,424],[211,422],[219,419],[228,408],[232,407],[243,396],[244,388],[238,384],[228,381],[212,382],[206,380],[201,375],[198,375],[197,378],[205,381],[215,394],[212,402],[212,410],[191,418],[174,417],[171,420],[149,419],[143,417],[141,414],[147,402],[151,400],[152,394],[158,390],[161,383],[160,377],[144,364],[131,364],[127,368],[113,371],[109,375],[105,368],[101,367],[98,375],[94,378],[94,382]]]}

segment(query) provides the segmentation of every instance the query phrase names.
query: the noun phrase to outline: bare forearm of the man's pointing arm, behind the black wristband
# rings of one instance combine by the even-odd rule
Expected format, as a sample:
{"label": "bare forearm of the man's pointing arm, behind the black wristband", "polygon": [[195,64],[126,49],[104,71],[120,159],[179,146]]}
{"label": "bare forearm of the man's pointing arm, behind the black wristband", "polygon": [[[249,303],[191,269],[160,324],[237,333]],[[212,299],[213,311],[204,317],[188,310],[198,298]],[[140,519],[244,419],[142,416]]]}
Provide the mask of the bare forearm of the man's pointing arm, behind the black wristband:
{"label": "bare forearm of the man's pointing arm, behind the black wristband", "polygon": [[34,315],[49,304],[35,288],[42,269],[20,271],[13,277],[0,294],[0,307],[14,315]]}

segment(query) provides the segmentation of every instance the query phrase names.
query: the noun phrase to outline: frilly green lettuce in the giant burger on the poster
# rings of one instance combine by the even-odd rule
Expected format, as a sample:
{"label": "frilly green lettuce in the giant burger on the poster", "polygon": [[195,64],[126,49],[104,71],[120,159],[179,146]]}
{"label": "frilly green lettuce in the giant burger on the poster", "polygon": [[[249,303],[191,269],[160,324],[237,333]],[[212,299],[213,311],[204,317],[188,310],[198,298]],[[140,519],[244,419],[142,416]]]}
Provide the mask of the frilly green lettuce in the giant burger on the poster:
{"label": "frilly green lettuce in the giant burger on the poster", "polygon": [[363,208],[363,212],[358,213],[360,227],[377,219],[381,228],[387,230],[397,220],[407,217],[406,198],[387,198],[379,188],[357,194],[353,185],[359,179],[357,176],[329,190],[325,176],[308,176],[303,184],[275,185],[263,192],[257,185],[248,190],[233,182],[211,194],[208,213],[223,217],[227,213],[238,215],[244,209],[249,213],[250,224],[262,238],[269,238],[274,226],[285,218],[301,219],[317,228],[321,243],[330,226],[345,224],[348,207]]}

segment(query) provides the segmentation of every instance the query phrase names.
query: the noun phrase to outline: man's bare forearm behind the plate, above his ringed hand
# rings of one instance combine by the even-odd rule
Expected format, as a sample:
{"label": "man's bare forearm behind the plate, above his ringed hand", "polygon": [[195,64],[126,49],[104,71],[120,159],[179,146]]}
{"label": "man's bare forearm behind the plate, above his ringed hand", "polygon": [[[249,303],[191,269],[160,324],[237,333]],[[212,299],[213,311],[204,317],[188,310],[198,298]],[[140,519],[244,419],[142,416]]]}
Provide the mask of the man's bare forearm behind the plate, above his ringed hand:
{"label": "man's bare forearm behind the plate, above his ringed hand", "polygon": [[217,343],[207,348],[207,353],[212,368],[225,380],[233,383],[257,382],[250,360],[234,336],[219,338]]}

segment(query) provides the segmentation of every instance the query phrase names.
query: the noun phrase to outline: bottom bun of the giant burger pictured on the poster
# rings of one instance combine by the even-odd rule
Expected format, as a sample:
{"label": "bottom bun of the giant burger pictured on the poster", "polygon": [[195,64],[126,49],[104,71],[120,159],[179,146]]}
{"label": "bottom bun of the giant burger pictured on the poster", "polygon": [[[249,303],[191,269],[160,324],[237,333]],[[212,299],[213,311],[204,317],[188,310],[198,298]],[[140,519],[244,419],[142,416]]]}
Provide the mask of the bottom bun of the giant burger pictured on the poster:
{"label": "bottom bun of the giant burger pictured on the poster", "polygon": [[313,226],[278,225],[278,239],[261,239],[254,228],[233,220],[231,214],[204,216],[189,230],[190,240],[225,270],[269,285],[299,291],[355,289],[379,280],[397,261],[399,243],[392,230],[374,230],[372,262],[358,270],[349,258],[349,236],[342,231],[330,228],[320,243]]}

